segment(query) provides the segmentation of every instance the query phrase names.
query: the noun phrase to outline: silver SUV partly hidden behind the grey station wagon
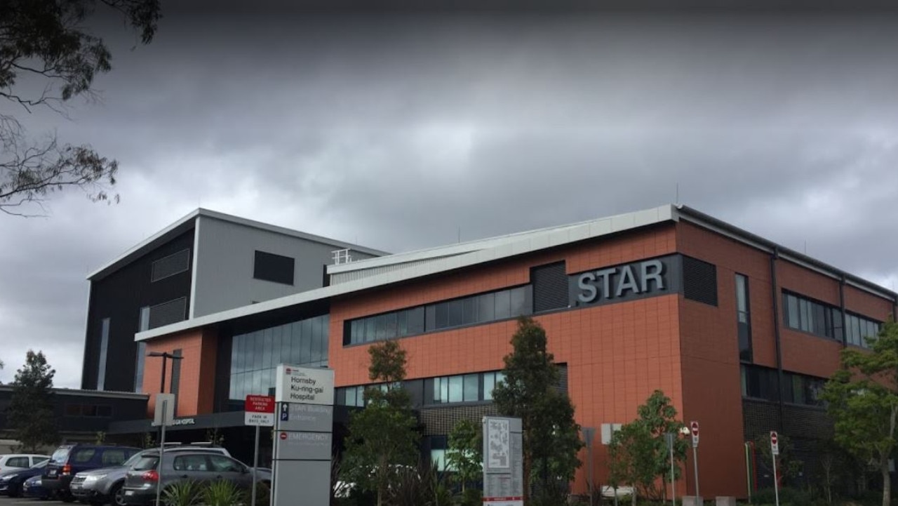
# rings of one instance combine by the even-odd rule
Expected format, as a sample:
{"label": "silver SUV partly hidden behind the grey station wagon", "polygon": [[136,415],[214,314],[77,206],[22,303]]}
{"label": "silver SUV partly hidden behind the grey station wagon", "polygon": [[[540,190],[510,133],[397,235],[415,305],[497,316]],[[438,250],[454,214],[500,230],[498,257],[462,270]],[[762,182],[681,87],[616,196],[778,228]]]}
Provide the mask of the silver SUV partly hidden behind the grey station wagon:
{"label": "silver SUV partly hidden behind the grey station wagon", "polygon": [[[166,455],[183,451],[215,453],[225,457],[231,456],[225,448],[216,447],[209,443],[165,444]],[[72,478],[69,491],[75,496],[75,499],[87,502],[93,506],[101,506],[101,504],[106,504],[107,502],[116,506],[124,506],[126,502],[122,487],[125,484],[125,476],[128,475],[128,468],[142,457],[149,454],[158,455],[158,453],[159,448],[148,448],[137,452],[121,466],[82,471]]]}

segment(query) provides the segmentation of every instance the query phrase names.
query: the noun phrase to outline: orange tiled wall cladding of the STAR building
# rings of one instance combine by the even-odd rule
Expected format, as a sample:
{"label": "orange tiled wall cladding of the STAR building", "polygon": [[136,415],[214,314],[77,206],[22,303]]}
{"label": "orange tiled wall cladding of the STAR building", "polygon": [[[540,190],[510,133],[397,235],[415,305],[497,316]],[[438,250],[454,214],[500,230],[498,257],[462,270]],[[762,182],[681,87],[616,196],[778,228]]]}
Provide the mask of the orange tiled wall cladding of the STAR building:
{"label": "orange tiled wall cladding of the STAR building", "polygon": [[[639,404],[655,389],[664,390],[680,417],[701,425],[699,466],[701,493],[745,494],[743,402],[735,309],[735,274],[748,277],[753,363],[778,366],[779,326],[782,367],[828,377],[838,367],[841,343],[788,330],[783,324],[780,293],[789,289],[839,306],[840,281],[785,260],[775,262],[773,289],[770,253],[685,222],[669,222],[508,260],[453,271],[427,280],[351,293],[330,301],[329,364],[336,386],[369,382],[367,346],[343,345],[350,319],[409,306],[462,297],[529,283],[531,269],[565,261],[568,274],[682,253],[712,263],[717,270],[718,305],[710,306],[669,294],[605,306],[559,310],[534,316],[549,336],[550,351],[568,366],[568,392],[577,422],[601,427],[629,422]],[[774,293],[775,292],[775,293]],[[885,320],[893,302],[846,287],[849,310]],[[775,302],[774,302],[775,299]],[[774,306],[779,318],[774,318]],[[511,351],[515,321],[506,320],[401,339],[408,351],[409,379],[441,377],[502,368]],[[179,415],[212,413],[217,336],[197,330],[158,338],[147,351],[181,349]],[[159,388],[161,359],[147,359],[144,391]],[[171,370],[168,375],[171,378]],[[152,413],[154,396],[150,400]],[[773,429],[773,428],[771,428]],[[585,452],[581,455],[585,460]],[[594,469],[604,483],[607,452],[595,443]],[[684,469],[682,493],[694,493],[691,455]],[[585,489],[582,466],[576,491]]]}

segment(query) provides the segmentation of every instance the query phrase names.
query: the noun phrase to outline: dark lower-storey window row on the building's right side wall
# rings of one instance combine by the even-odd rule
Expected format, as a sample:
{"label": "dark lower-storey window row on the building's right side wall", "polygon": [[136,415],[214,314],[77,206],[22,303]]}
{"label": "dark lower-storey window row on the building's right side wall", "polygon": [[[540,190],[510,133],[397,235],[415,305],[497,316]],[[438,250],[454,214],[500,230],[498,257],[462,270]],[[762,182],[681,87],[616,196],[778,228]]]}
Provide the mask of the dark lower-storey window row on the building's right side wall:
{"label": "dark lower-storey window row on the building's right side wall", "polygon": [[[777,370],[742,366],[742,396],[770,402],[779,400]],[[810,406],[823,405],[823,386],[826,379],[783,372],[783,402]]]}

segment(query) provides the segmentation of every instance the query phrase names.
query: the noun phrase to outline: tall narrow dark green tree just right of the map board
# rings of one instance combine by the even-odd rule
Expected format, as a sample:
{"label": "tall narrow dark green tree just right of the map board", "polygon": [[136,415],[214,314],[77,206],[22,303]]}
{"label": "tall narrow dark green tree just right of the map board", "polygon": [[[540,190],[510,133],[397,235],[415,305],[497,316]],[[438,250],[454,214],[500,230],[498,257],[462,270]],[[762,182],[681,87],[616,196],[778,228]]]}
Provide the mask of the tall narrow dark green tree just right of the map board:
{"label": "tall narrow dark green tree just right of the map board", "polygon": [[504,416],[521,418],[524,430],[524,501],[534,476],[543,490],[554,482],[568,484],[583,448],[574,405],[559,392],[559,370],[546,351],[546,333],[532,318],[521,316],[511,338],[512,352],[503,359],[505,379],[493,390],[493,401]]}

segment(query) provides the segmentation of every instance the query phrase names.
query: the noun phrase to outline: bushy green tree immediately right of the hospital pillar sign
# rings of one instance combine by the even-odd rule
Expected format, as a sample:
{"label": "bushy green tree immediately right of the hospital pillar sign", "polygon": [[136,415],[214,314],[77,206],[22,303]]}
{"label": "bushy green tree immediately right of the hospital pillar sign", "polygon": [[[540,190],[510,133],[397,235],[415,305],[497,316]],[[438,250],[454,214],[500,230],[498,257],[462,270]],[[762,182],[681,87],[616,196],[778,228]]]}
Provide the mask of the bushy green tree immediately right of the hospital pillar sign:
{"label": "bushy green tree immediately right of the hospital pillar sign", "polygon": [[406,352],[395,341],[368,348],[368,377],[380,386],[365,388],[365,409],[349,419],[349,435],[340,471],[344,480],[377,493],[382,506],[392,476],[401,467],[418,465],[418,421],[409,393],[401,387]]}

